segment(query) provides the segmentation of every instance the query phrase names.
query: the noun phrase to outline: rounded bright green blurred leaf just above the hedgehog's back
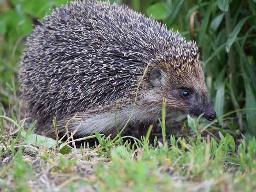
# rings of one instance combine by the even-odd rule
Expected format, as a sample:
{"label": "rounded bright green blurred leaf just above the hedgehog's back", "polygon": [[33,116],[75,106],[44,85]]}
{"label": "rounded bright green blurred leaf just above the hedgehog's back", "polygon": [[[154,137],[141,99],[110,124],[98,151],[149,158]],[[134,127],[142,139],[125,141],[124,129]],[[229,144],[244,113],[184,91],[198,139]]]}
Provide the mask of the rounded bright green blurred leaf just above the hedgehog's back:
{"label": "rounded bright green blurred leaf just above the hedgehog's back", "polygon": [[146,9],[148,16],[152,15],[152,18],[155,20],[164,20],[168,15],[167,4],[165,3],[155,3],[148,6]]}

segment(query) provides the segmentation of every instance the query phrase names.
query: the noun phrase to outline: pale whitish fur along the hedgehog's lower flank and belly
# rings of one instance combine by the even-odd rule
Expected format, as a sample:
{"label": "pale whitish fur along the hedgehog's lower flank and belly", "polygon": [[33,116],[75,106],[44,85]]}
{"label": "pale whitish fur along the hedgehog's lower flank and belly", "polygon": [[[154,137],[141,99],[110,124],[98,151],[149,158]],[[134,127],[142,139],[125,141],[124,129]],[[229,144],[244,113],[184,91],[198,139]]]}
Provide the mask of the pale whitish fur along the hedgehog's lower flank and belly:
{"label": "pale whitish fur along the hedgehog's lower flank and belly", "polygon": [[[82,121],[71,121],[68,124],[68,131],[73,132],[76,128],[76,137],[82,137],[85,135],[92,135],[96,130],[101,134],[110,134],[116,133],[116,125],[119,131],[124,127],[128,119],[131,117],[129,124],[136,126],[140,123],[155,122],[159,117],[161,110],[157,106],[145,106],[140,103],[140,98],[138,98],[135,108],[133,110],[134,104],[125,104],[125,107],[119,103],[119,107],[115,112],[116,103],[107,104],[104,106],[99,106],[98,108],[88,109],[84,112],[78,113],[76,117],[82,118]],[[124,104],[124,103],[123,103]],[[121,106],[120,106],[121,105]],[[109,110],[110,109],[110,110]],[[115,122],[116,116],[116,122]],[[71,116],[62,118],[60,121],[57,121],[57,129],[60,131],[60,135],[66,133],[65,124]],[[47,130],[46,135],[53,136],[54,129],[52,125]]]}

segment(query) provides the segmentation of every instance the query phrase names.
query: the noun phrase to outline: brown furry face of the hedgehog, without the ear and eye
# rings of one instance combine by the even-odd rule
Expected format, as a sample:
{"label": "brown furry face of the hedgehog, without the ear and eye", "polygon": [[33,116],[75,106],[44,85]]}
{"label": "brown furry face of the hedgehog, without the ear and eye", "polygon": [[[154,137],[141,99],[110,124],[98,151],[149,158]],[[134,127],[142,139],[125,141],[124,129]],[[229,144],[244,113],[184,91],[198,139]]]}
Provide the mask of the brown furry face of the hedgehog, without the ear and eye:
{"label": "brown furry face of the hedgehog, without the ear and eye", "polygon": [[[216,113],[208,97],[198,53],[196,52],[194,57],[188,58],[186,63],[180,64],[180,60],[185,61],[184,58],[179,58],[178,64],[174,64],[174,61],[171,65],[164,62],[157,67],[161,74],[156,75],[159,76],[159,79],[155,80],[156,83],[153,80],[151,84],[158,89],[156,98],[159,105],[162,104],[164,97],[167,99],[167,111],[177,111],[192,116],[199,116],[204,113],[204,118],[212,120]],[[188,98],[182,96],[183,91],[189,92]]]}

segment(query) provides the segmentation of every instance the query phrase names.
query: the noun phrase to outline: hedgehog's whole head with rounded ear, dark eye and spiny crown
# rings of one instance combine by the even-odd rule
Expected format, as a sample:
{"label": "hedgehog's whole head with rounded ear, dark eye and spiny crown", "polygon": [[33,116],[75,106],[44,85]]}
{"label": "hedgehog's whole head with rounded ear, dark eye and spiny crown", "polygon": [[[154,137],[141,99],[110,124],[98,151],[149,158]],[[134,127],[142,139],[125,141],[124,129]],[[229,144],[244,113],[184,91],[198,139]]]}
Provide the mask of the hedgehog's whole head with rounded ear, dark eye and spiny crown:
{"label": "hedgehog's whole head with rounded ear, dark eye and spiny crown", "polygon": [[150,72],[150,84],[156,87],[159,103],[167,99],[166,109],[199,116],[212,121],[216,113],[208,97],[204,73],[194,43],[172,47],[168,59]]}

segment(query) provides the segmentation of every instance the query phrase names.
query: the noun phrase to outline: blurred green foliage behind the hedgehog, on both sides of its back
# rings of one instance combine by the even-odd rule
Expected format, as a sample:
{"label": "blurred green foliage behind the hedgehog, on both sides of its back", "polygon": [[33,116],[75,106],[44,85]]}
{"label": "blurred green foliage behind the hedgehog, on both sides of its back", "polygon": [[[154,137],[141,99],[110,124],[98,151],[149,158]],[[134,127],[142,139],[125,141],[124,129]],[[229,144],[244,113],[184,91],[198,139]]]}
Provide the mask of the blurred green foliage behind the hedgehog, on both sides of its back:
{"label": "blurred green foliage behind the hedgehog, on both sides of its back", "polygon": [[[111,3],[114,1],[111,0]],[[256,135],[256,0],[116,0],[195,40],[219,125]],[[0,0],[0,104],[16,75],[33,24],[67,0]],[[246,109],[246,110],[244,110]],[[235,110],[235,113],[231,113]],[[238,130],[238,131],[236,131]]]}

